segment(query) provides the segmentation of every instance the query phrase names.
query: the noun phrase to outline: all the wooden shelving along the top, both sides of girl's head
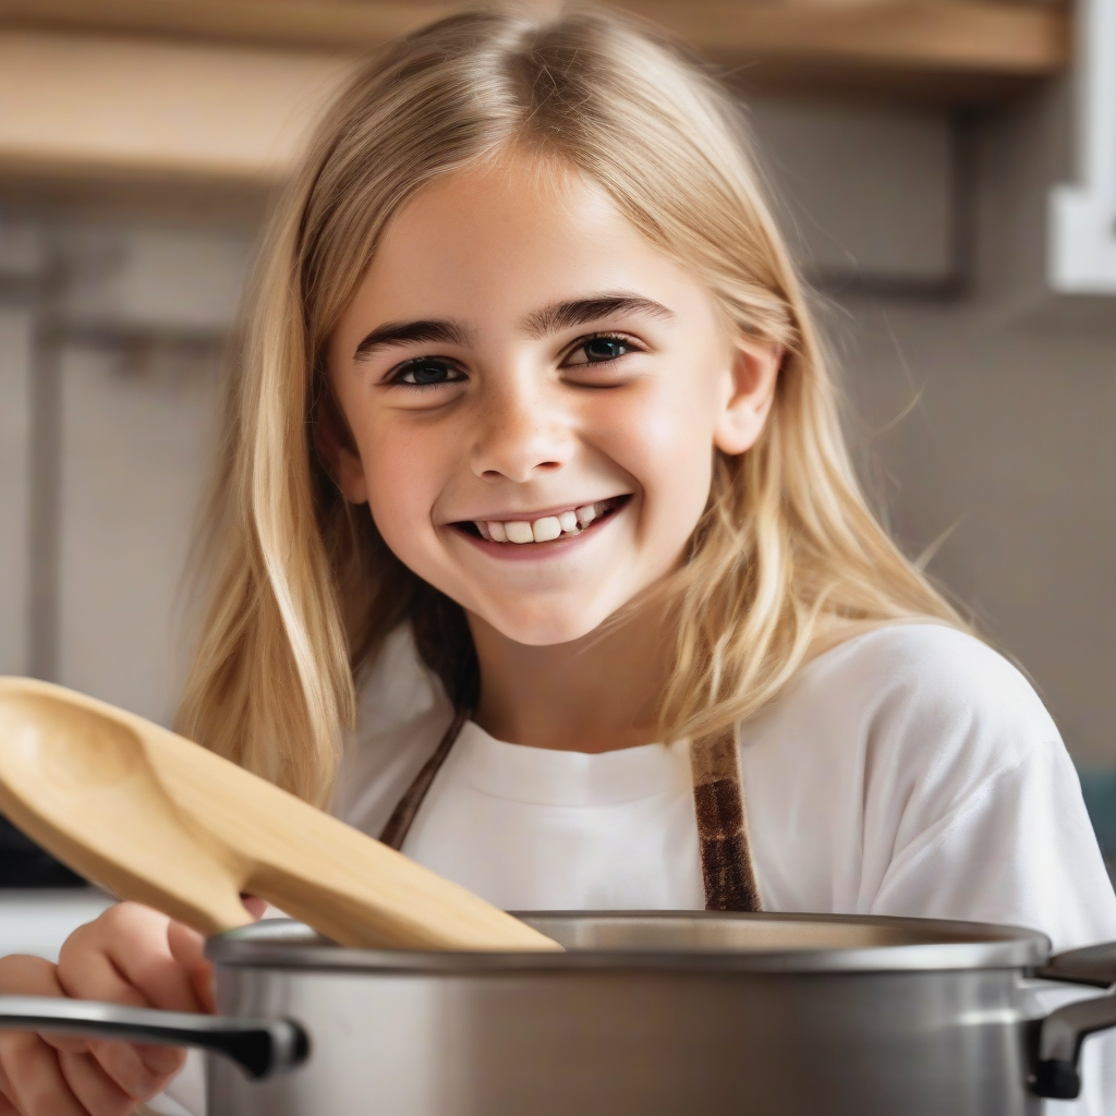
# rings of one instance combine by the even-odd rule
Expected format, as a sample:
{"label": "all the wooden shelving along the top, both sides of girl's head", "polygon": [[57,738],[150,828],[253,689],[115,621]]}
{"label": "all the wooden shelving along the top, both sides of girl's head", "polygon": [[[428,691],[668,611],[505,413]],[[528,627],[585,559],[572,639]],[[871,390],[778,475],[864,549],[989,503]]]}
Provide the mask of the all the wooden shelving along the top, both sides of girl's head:
{"label": "all the wooden shelving along the top, both sides of girl's head", "polygon": [[[1068,61],[1060,8],[620,2],[672,28],[745,90],[980,103],[1033,87]],[[162,183],[254,205],[287,177],[360,52],[449,10],[422,0],[0,0],[3,191]]]}

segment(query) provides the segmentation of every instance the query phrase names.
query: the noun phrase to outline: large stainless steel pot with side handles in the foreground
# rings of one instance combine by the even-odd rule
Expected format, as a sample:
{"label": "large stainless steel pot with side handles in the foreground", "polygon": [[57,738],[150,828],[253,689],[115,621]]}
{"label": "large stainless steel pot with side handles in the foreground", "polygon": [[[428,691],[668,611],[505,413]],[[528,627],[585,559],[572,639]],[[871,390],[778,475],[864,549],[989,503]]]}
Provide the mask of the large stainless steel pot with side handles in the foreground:
{"label": "large stainless steel pot with side handles in the foreground", "polygon": [[[0,1026],[201,1046],[210,1116],[1018,1116],[1076,1096],[1116,982],[977,923],[531,914],[565,954],[346,950],[291,922],[212,939],[220,1017],[0,999]],[[1049,985],[1047,985],[1049,987]],[[239,1065],[234,1065],[239,1064]]]}

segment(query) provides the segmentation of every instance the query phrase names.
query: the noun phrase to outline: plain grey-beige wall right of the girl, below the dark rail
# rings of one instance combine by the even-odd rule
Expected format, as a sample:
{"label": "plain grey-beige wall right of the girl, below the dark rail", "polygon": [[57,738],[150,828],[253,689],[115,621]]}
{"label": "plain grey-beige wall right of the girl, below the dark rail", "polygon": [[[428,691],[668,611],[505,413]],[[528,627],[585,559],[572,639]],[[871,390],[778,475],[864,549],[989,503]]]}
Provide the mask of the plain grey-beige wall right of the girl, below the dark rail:
{"label": "plain grey-beige wall right of the girl, below the dark rail", "polygon": [[1075,756],[1116,764],[1116,338],[970,300],[840,311],[865,472],[907,552],[949,532],[930,573],[1028,672]]}

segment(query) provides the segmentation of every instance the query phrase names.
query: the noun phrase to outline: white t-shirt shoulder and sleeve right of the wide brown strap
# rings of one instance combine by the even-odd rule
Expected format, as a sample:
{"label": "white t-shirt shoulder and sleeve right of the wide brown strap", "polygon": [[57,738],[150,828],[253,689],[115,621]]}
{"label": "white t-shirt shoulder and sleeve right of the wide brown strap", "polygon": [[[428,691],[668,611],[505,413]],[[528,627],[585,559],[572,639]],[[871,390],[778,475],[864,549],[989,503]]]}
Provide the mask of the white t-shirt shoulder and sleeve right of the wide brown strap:
{"label": "white t-shirt shoulder and sleeve right of the wide brown strap", "polygon": [[1080,785],[1035,689],[939,624],[858,635],[742,725],[764,902],[1116,934]]}

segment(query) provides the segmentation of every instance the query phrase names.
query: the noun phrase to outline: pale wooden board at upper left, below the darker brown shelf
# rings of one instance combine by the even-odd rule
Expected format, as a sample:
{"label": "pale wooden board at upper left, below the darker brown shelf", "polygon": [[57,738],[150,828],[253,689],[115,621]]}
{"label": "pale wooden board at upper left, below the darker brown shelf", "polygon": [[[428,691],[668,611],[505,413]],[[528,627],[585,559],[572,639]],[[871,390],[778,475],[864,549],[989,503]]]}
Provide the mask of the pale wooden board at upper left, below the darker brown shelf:
{"label": "pale wooden board at upper left, below the darker brown shelf", "polygon": [[268,186],[353,56],[0,30],[0,172]]}

